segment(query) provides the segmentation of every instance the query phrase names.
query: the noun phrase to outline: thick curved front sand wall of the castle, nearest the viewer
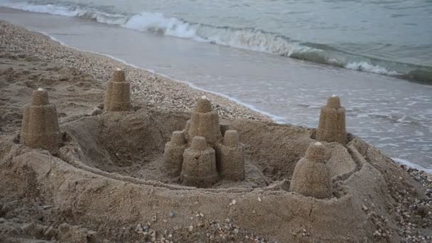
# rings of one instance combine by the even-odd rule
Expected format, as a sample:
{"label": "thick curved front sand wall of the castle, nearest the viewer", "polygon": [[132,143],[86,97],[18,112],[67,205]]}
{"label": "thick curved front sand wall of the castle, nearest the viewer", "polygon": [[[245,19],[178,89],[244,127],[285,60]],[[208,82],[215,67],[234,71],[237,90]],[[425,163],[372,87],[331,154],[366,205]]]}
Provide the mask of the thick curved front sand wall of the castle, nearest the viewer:
{"label": "thick curved front sand wall of the castle, nearest the viewer", "polygon": [[[14,169],[27,167],[32,171],[41,193],[51,198],[66,218],[89,222],[95,227],[104,225],[107,230],[118,225],[134,225],[148,219],[149,215],[158,215],[161,219],[158,227],[184,225],[184,221],[198,211],[220,221],[229,217],[241,227],[265,232],[266,236],[283,242],[301,239],[286,232],[301,237],[303,229],[313,234],[313,239],[329,242],[357,242],[359,239],[355,234],[372,234],[367,232],[367,225],[362,224],[365,215],[361,208],[353,207],[352,195],[315,200],[284,191],[254,190],[240,195],[135,185],[79,170],[58,158],[35,151],[16,156],[12,164]],[[6,171],[4,166],[1,165],[2,171]],[[230,207],[229,203],[234,199],[237,203]],[[171,211],[178,216],[171,219]],[[343,222],[341,218],[344,218]],[[163,222],[163,219],[169,221]],[[359,225],[362,225],[362,232],[357,228]]]}

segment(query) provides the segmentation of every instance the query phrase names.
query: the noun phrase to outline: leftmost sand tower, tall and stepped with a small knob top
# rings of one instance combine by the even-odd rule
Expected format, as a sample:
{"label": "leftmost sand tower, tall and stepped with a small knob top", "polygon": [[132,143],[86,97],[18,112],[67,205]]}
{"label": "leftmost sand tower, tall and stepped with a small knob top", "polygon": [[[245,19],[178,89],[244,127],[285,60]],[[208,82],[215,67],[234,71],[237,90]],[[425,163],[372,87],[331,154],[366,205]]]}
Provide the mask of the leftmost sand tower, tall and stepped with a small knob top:
{"label": "leftmost sand tower, tall and stepped with a small knob top", "polygon": [[33,101],[23,109],[21,143],[31,148],[43,148],[50,153],[57,153],[60,142],[55,104],[50,104],[46,90],[40,88],[33,91]]}

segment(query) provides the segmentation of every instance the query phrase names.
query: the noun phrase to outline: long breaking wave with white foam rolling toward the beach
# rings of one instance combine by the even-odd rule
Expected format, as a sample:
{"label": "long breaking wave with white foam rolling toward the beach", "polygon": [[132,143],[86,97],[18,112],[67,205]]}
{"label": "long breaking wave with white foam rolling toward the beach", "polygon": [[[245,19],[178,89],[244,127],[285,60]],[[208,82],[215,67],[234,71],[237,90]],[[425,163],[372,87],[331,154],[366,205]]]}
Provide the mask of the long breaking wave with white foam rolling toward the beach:
{"label": "long breaking wave with white foam rolling toward the beach", "polygon": [[167,17],[163,13],[145,11],[141,13],[114,13],[90,6],[36,5],[29,2],[15,1],[0,1],[0,6],[24,11],[85,18],[135,31],[146,31],[193,41],[271,53],[313,63],[389,75],[432,85],[432,67],[396,63],[390,60],[377,60],[367,56],[346,53],[332,45],[303,43],[278,33],[271,33],[257,28],[211,26],[184,21],[180,18]]}

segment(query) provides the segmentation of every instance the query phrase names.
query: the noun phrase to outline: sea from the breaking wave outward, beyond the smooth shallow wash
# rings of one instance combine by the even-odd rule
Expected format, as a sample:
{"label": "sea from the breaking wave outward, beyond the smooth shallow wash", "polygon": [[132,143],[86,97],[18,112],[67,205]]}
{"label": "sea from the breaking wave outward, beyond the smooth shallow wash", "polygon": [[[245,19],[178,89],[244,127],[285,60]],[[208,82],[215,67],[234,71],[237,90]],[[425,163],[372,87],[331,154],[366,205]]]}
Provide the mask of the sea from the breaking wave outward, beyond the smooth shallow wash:
{"label": "sea from the breaking wave outward, beyond the smooth shallow wash", "polygon": [[432,84],[430,0],[0,0],[0,6]]}

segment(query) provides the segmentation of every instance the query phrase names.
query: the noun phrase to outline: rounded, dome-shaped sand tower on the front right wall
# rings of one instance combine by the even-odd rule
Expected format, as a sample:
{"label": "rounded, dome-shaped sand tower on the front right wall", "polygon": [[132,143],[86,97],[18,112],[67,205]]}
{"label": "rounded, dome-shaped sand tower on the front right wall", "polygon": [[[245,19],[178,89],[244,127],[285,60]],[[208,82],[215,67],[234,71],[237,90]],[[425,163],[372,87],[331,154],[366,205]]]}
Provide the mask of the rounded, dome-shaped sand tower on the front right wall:
{"label": "rounded, dome-shaped sand tower on the front right wall", "polygon": [[306,150],[306,155],[294,168],[290,190],[314,198],[329,198],[331,184],[330,173],[325,166],[326,158],[323,144],[311,144]]}

